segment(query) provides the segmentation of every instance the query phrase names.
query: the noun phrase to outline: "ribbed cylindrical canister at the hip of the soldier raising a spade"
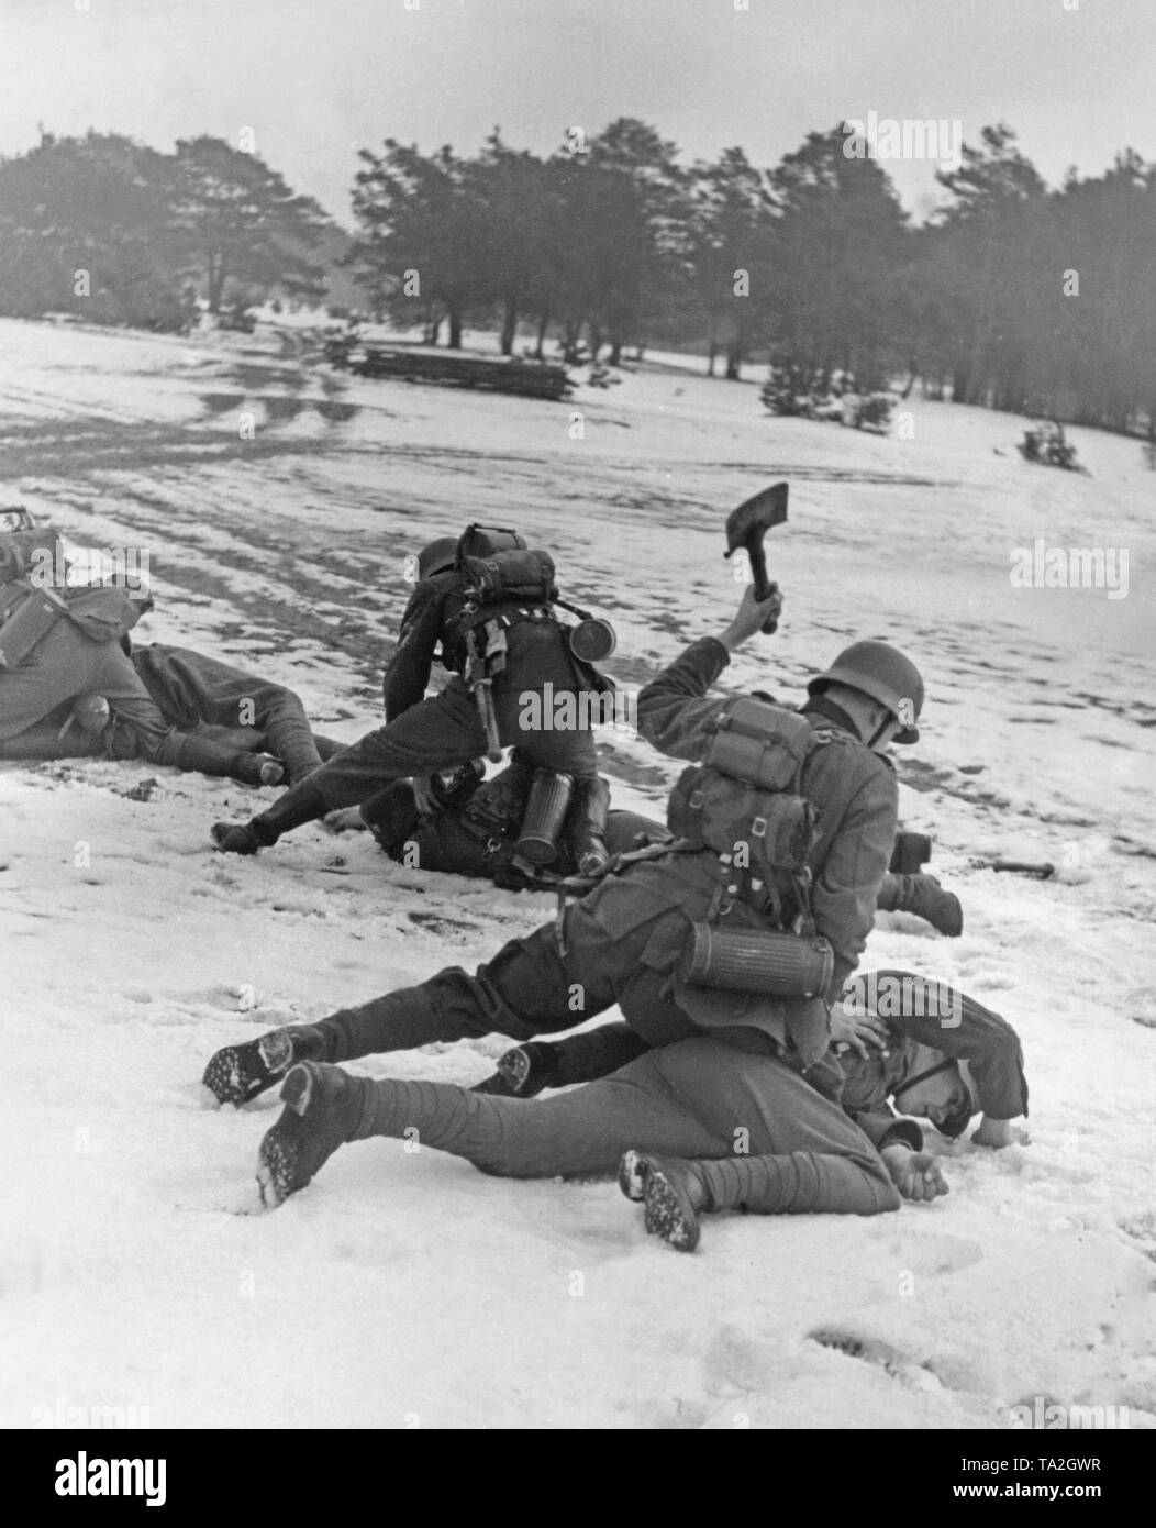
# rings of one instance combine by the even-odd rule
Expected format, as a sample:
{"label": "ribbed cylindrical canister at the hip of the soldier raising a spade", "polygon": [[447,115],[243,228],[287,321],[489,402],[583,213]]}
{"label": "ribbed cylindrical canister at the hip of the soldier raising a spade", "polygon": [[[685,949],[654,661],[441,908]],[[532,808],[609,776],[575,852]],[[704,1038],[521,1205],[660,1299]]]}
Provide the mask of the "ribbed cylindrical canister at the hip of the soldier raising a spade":
{"label": "ribbed cylindrical canister at the hip of the soldier raising a spade", "polygon": [[718,929],[695,923],[683,957],[689,987],[722,987],[776,998],[822,998],[831,984],[835,953],[817,935],[768,929]]}

